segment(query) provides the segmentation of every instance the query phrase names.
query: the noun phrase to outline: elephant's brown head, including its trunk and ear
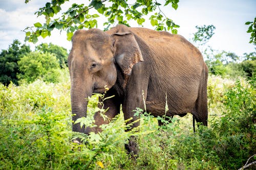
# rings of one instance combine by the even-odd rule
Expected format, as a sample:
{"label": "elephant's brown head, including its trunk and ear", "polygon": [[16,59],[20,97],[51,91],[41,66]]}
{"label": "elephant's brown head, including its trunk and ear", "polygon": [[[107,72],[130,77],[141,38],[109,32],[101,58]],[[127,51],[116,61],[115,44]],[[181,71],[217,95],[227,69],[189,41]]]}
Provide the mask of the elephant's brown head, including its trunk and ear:
{"label": "elephant's brown head, including its trunk and ear", "polygon": [[[131,33],[108,34],[98,29],[78,30],[72,38],[68,58],[71,77],[72,120],[86,116],[87,98],[92,93],[103,93],[117,80],[117,67],[123,77],[129,77],[132,67],[143,61],[138,43]],[[75,132],[84,133],[79,124]]]}

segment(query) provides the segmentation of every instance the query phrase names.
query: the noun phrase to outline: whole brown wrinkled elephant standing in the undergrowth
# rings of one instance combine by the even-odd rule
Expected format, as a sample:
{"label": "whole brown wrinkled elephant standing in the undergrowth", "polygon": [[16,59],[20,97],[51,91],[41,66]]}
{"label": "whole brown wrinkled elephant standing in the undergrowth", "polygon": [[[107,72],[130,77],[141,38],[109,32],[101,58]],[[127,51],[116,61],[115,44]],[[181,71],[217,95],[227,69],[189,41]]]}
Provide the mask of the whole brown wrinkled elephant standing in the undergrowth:
{"label": "whole brown wrinkled elephant standing in the undergrowth", "polygon": [[[164,115],[167,94],[167,116],[191,113],[207,126],[208,69],[199,50],[180,35],[123,25],[106,32],[78,30],[72,38],[68,65],[73,121],[87,115],[86,98],[103,93],[107,86],[106,96],[115,95],[104,101],[109,118],[119,113],[122,104],[124,118],[137,119],[133,110],[144,108],[143,91],[147,112],[152,115]],[[98,113],[94,118],[97,127],[84,129],[75,124],[72,130],[99,132],[100,125],[109,123]],[[137,154],[132,140],[126,149]]]}

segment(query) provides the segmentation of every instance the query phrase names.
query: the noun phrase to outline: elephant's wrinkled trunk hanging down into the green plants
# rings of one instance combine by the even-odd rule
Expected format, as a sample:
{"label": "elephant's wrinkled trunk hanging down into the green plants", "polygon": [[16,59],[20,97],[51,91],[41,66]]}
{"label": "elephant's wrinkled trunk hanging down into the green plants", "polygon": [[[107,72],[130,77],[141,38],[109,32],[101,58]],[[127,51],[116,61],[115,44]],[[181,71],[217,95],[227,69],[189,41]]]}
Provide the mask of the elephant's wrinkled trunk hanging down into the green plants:
{"label": "elephant's wrinkled trunk hanging down into the green plants", "polygon": [[74,124],[78,118],[87,116],[88,97],[92,95],[90,81],[71,81],[71,107],[72,107],[72,131],[84,133],[84,126],[80,123]]}

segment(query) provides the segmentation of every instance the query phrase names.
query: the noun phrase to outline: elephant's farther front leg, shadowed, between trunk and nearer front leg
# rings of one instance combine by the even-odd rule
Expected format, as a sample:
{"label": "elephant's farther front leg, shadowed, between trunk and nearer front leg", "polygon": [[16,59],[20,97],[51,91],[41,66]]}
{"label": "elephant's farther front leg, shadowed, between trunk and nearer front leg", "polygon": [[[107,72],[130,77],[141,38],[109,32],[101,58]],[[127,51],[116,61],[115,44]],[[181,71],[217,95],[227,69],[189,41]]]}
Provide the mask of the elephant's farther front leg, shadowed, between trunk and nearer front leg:
{"label": "elephant's farther front leg, shadowed, between trunk and nearer front leg", "polygon": [[[109,96],[112,96],[112,95],[113,93],[107,92],[105,95],[105,98],[108,98]],[[99,99],[99,102],[102,102],[102,99]],[[108,111],[104,113],[104,115],[106,115],[106,118],[104,119],[102,115],[100,115],[100,112],[96,112],[94,114],[94,120],[95,120],[94,124],[96,125],[96,127],[93,127],[93,128],[87,127],[85,130],[85,133],[89,134],[90,132],[95,132],[95,133],[101,132],[102,130],[100,128],[100,125],[110,123],[112,118],[115,117],[120,112],[120,104],[121,104],[120,100],[117,98],[117,96],[104,100],[103,109],[108,109]],[[102,106],[99,104],[98,107],[101,108]]]}

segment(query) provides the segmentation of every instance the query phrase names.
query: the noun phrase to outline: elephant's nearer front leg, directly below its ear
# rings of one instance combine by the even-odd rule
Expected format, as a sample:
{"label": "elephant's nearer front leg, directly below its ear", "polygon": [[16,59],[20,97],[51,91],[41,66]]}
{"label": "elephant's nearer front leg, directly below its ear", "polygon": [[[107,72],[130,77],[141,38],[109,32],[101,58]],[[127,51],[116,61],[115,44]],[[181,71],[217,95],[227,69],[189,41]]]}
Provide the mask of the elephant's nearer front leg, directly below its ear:
{"label": "elephant's nearer front leg, directly below its ear", "polygon": [[[148,76],[144,74],[142,68],[142,63],[137,63],[133,67],[132,74],[129,78],[129,81],[126,85],[126,95],[123,101],[122,110],[124,114],[124,119],[130,119],[126,124],[131,124],[138,119],[134,115],[134,110],[136,108],[144,109],[143,98],[146,100],[147,96],[147,85],[148,85]],[[139,122],[133,123],[132,128],[139,126]],[[125,144],[125,149],[127,152],[133,156],[138,154],[138,145],[136,142],[136,137],[132,136],[128,144]]]}

